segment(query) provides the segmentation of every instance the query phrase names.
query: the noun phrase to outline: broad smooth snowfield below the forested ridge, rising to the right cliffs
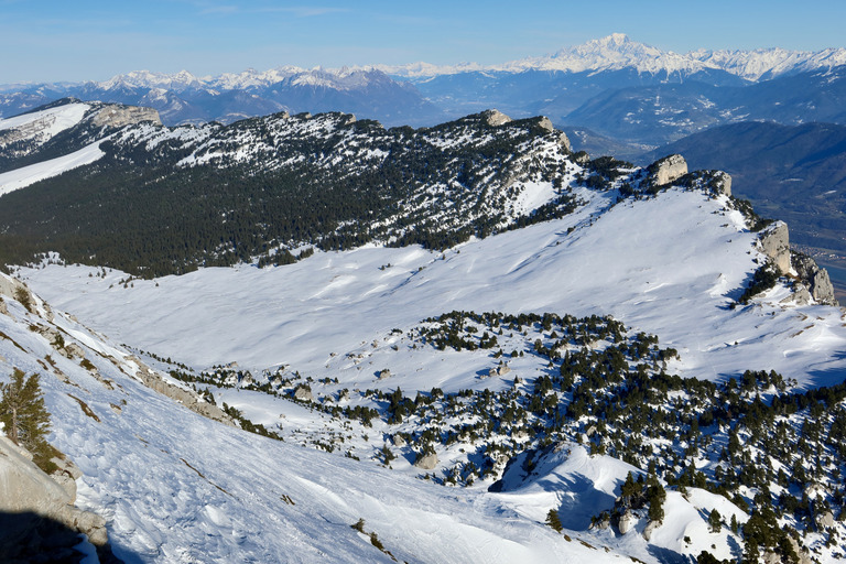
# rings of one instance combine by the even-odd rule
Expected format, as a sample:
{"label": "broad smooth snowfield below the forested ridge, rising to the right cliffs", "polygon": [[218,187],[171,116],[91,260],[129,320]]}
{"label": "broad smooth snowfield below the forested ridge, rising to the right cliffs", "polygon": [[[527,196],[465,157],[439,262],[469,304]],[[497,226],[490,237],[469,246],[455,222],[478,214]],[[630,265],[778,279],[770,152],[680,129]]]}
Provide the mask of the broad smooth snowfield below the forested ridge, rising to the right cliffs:
{"label": "broad smooth snowfield below the forested ridge, rising to the right cliffs", "polygon": [[[783,286],[729,308],[764,257],[725,197],[672,189],[608,209],[614,192],[577,195],[590,204],[564,219],[445,253],[365,247],[270,270],[137,280],[126,290],[116,285],[121,273],[90,278],[90,268],[50,265],[24,275],[99,330],[199,368],[286,364],[315,378],[359,381],[356,369],[345,377],[326,368],[329,355],[465,310],[612,315],[677,349],[683,376],[718,380],[774,369],[807,386],[839,381],[846,328],[838,308],[782,304],[791,295]],[[375,370],[421,368],[388,348],[375,355]],[[412,382],[403,387],[431,388]]]}

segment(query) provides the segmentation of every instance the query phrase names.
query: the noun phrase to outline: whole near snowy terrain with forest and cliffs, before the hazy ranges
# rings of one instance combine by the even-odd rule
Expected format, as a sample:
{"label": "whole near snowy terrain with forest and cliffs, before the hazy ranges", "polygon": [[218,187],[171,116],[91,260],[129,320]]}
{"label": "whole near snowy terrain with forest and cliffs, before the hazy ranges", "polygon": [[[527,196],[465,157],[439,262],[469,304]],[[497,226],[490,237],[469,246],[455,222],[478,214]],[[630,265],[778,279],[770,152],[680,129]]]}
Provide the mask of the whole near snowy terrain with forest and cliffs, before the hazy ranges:
{"label": "whole near snowy terrain with forest and cliffs, before the hazy ranges", "polygon": [[490,109],[0,120],[0,378],[57,449],[0,438],[2,557],[846,558],[846,314],[736,188]]}

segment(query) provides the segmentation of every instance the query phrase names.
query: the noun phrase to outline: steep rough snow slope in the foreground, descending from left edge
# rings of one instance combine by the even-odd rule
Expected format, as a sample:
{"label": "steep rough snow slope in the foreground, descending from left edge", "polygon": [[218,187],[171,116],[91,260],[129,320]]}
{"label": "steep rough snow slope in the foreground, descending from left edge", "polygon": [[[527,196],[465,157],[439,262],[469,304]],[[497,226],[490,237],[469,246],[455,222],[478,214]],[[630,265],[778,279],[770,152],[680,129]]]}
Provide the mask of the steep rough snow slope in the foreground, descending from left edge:
{"label": "steep rough snow slope in the foreground, descending from left edge", "polygon": [[[3,296],[0,372],[41,373],[51,442],[84,473],[77,505],[106,518],[124,562],[392,562],[372,539],[408,562],[623,562],[503,518],[485,490],[444,489],[204,419],[142,386],[122,347],[30,303]],[[366,534],[351,528],[359,519]]]}

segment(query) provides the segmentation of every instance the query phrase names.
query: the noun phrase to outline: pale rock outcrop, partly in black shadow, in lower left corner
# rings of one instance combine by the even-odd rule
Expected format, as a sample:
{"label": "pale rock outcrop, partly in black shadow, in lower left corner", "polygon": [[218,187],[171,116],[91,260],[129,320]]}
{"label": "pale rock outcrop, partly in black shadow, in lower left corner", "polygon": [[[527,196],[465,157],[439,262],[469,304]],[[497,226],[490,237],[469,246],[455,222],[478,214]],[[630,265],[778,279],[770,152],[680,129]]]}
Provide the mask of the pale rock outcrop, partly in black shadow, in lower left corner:
{"label": "pale rock outcrop, partly in black shadow, in lower left corner", "polygon": [[[2,519],[0,556],[8,556],[6,551],[19,546],[21,539],[34,536],[37,540],[40,534],[32,533],[43,527],[42,518],[87,534],[96,546],[108,542],[106,521],[73,507],[72,497],[65,489],[3,436],[0,436],[0,513],[21,513],[13,519]],[[74,541],[76,543],[78,539]]]}

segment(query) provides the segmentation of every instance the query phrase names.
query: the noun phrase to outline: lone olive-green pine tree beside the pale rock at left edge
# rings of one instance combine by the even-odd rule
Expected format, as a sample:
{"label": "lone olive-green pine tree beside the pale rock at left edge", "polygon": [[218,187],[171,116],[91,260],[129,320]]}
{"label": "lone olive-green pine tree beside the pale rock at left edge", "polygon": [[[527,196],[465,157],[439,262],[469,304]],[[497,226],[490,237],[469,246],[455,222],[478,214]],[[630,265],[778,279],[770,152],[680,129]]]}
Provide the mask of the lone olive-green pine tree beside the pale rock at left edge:
{"label": "lone olive-green pine tree beside the pale rock at left edge", "polygon": [[45,438],[50,432],[50,412],[44,406],[39,375],[25,376],[15,368],[12,380],[0,383],[0,422],[7,436],[30,451],[33,462],[47,470],[55,453]]}

